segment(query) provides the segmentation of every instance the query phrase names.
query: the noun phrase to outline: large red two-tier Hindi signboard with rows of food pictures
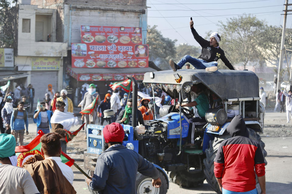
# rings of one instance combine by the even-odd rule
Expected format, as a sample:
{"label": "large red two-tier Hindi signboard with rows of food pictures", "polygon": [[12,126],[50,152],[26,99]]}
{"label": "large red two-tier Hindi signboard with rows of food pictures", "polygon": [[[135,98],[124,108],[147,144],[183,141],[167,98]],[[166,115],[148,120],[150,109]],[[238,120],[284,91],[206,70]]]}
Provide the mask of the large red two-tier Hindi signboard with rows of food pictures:
{"label": "large red two-tier Hindi signboard with rows of food pictures", "polygon": [[71,45],[73,68],[148,67],[141,28],[81,26],[81,40]]}

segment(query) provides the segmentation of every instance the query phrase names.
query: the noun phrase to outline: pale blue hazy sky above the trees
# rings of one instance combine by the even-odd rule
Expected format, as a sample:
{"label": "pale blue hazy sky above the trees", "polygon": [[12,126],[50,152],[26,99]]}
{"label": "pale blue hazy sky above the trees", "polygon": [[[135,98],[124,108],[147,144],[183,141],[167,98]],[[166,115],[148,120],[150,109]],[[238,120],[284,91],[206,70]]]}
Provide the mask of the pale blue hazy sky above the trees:
{"label": "pale blue hazy sky above the trees", "polygon": [[[280,27],[283,26],[284,15],[281,14],[284,14],[285,3],[286,0],[147,0],[147,23],[151,27],[157,25],[164,37],[177,39],[176,45],[199,46],[189,28],[190,17],[203,38],[208,31],[218,32],[219,21],[226,23],[228,18],[242,14],[252,14],[268,25]],[[292,6],[288,6],[289,9],[292,10]],[[287,15],[286,28],[292,28],[292,15]]]}

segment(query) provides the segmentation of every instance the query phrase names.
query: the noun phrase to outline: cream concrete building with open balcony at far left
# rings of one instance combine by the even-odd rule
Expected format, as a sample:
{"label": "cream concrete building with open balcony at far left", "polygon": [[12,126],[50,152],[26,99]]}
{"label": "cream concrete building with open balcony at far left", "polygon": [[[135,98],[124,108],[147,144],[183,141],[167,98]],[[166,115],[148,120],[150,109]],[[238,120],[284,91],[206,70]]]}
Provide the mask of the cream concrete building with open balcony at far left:
{"label": "cream concrete building with open balcony at far left", "polygon": [[[37,99],[43,101],[48,84],[52,84],[55,91],[62,88],[63,57],[67,56],[67,43],[56,42],[57,10],[38,8],[37,5],[30,5],[30,1],[19,1],[5,13],[6,21],[13,18],[9,23],[9,33],[13,34],[10,47],[14,50],[14,67],[11,69],[14,71],[2,72],[3,76],[13,74],[10,77],[14,80],[14,87],[33,84],[36,105]],[[22,79],[16,79],[19,76]],[[13,91],[14,87],[10,90]]]}

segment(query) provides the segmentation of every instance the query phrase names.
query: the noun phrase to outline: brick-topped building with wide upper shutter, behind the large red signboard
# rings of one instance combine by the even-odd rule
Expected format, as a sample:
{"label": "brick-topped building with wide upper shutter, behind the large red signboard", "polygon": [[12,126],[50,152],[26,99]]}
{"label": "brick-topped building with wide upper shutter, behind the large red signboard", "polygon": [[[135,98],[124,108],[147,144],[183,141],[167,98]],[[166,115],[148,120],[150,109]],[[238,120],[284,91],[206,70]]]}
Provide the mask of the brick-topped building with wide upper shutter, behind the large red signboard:
{"label": "brick-topped building with wide upper shutter, behind the large red signboard", "polygon": [[[86,73],[118,74],[141,73],[156,71],[148,68],[72,68],[71,43],[81,42],[81,26],[116,26],[140,27],[142,30],[142,44],[146,43],[147,36],[147,6],[146,0],[32,0],[32,5],[38,8],[56,10],[56,41],[66,42],[68,47],[67,57],[63,64],[63,87],[71,81],[75,88],[80,87],[85,81],[78,80],[78,75]],[[103,96],[108,90],[110,81],[95,81],[100,94]],[[75,92],[79,94],[80,91]],[[80,102],[80,97],[77,100]],[[76,105],[76,102],[75,102]]]}

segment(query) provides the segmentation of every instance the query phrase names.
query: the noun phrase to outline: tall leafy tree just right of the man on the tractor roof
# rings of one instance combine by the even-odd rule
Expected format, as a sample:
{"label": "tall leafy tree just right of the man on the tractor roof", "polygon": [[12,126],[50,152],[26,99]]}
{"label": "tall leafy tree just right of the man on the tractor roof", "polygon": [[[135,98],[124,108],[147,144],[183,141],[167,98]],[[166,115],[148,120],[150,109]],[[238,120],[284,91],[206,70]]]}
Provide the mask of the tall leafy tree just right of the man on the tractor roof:
{"label": "tall leafy tree just right of the man on the tractor roof", "polygon": [[219,22],[219,32],[224,51],[231,64],[241,63],[246,69],[248,64],[260,64],[261,52],[257,49],[260,36],[265,31],[265,21],[252,15],[227,19]]}

